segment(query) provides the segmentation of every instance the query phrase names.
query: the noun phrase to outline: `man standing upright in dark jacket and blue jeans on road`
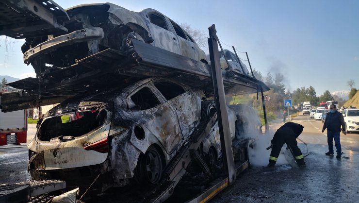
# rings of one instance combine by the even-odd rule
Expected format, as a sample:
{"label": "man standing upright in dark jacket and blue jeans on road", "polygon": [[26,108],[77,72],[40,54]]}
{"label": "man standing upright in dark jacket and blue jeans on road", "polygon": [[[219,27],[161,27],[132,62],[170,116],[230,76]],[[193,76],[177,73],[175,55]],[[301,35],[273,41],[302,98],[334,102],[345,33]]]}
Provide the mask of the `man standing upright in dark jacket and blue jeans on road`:
{"label": "man standing upright in dark jacket and blue jeans on road", "polygon": [[346,135],[345,132],[345,122],[343,118],[343,114],[337,111],[337,106],[332,104],[329,107],[329,112],[326,114],[326,120],[323,124],[322,133],[326,130],[326,137],[328,140],[328,148],[329,152],[326,152],[326,155],[333,155],[333,138],[335,142],[335,148],[337,149],[337,158],[342,158],[342,146],[340,144],[340,131],[341,127],[343,130],[343,134]]}

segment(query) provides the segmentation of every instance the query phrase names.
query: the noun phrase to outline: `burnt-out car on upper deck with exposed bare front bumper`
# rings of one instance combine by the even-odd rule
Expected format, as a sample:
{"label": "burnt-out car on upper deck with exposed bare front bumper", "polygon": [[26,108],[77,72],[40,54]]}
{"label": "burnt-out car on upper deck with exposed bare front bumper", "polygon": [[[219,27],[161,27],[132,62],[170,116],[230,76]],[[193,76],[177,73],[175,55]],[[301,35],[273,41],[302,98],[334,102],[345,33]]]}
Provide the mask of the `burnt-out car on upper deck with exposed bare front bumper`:
{"label": "burnt-out car on upper deck with exposed bare front bumper", "polygon": [[69,20],[63,19],[62,23],[67,33],[26,38],[22,46],[24,62],[31,63],[36,73],[69,67],[107,49],[131,52],[128,39],[208,63],[204,51],[193,38],[154,9],[132,12],[105,3],[75,6],[67,9],[66,13]]}

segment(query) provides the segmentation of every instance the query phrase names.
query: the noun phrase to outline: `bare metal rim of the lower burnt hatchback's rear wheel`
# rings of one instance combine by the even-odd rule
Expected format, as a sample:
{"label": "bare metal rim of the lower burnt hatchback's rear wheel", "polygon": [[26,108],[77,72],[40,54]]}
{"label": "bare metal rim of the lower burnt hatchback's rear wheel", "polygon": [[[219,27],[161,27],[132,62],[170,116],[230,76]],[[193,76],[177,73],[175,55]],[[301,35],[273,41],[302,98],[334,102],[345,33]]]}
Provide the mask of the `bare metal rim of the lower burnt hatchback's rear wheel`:
{"label": "bare metal rim of the lower burnt hatchback's rear wheel", "polygon": [[160,153],[152,148],[146,152],[145,176],[149,183],[156,184],[161,180],[163,163]]}

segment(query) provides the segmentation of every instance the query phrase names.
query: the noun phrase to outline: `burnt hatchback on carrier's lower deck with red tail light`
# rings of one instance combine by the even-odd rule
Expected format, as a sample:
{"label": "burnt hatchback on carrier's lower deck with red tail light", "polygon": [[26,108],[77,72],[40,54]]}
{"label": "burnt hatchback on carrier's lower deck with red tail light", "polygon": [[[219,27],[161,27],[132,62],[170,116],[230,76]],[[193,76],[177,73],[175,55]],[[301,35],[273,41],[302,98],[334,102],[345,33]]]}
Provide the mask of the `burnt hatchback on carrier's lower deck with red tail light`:
{"label": "burnt hatchback on carrier's lower deck with red tail light", "polygon": [[101,189],[131,180],[158,183],[199,125],[205,100],[201,90],[149,78],[64,101],[45,115],[28,145],[31,175],[65,180],[68,186],[88,186],[100,176]]}

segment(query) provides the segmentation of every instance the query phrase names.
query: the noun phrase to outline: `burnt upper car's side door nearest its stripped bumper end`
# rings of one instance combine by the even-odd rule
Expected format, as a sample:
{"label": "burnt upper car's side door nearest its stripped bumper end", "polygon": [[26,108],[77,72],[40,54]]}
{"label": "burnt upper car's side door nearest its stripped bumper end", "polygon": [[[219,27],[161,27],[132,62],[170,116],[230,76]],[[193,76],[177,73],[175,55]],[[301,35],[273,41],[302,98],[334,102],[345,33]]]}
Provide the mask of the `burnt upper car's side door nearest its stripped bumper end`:
{"label": "burnt upper car's side door nearest its stripped bumper end", "polygon": [[154,11],[146,15],[149,20],[149,29],[154,39],[153,45],[161,49],[181,54],[177,35],[171,32],[171,27],[166,18]]}

